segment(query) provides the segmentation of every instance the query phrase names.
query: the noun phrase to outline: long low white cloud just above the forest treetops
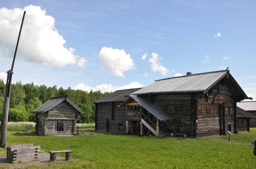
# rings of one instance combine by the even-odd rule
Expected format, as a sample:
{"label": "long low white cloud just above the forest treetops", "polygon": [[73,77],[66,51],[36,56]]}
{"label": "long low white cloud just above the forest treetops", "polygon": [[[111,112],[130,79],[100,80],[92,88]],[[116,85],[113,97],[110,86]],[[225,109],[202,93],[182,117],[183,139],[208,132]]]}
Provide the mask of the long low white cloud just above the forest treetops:
{"label": "long low white cloud just above the forest treetops", "polygon": [[116,90],[123,90],[123,89],[132,89],[132,88],[139,88],[139,87],[144,87],[143,85],[141,85],[139,82],[132,82],[129,85],[125,85],[125,86],[112,86],[111,84],[101,84],[101,85],[97,85],[96,87],[90,87],[90,86],[86,86],[84,83],[80,83],[78,85],[76,85],[75,87],[73,87],[73,89],[77,90],[84,90],[87,92],[90,92],[90,90],[93,91],[98,91],[100,90],[101,92],[114,92]]}

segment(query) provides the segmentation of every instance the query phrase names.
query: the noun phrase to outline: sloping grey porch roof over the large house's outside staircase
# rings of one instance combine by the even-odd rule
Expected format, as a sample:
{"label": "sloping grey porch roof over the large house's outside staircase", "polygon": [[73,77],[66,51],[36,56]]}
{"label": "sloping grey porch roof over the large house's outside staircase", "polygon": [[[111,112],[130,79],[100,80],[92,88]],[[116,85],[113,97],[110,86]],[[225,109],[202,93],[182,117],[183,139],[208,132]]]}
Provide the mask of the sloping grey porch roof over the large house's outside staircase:
{"label": "sloping grey porch roof over the large house's outside staircase", "polygon": [[124,106],[130,99],[134,99],[139,103],[142,107],[144,107],[148,112],[150,112],[152,115],[154,115],[156,118],[158,118],[160,121],[168,121],[173,120],[173,118],[170,115],[167,115],[166,113],[163,113],[161,110],[159,110],[157,107],[155,107],[153,104],[151,104],[148,100],[142,97],[138,96],[130,96],[128,100],[126,100],[124,103],[122,103],[122,106]]}

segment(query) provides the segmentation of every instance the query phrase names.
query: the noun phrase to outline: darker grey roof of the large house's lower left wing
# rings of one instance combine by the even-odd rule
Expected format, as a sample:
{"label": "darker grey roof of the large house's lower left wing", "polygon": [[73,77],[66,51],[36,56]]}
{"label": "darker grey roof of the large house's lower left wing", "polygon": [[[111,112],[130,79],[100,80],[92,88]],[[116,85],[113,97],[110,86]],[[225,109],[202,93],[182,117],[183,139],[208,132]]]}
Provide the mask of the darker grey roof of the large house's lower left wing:
{"label": "darker grey roof of the large house's lower left wing", "polygon": [[110,93],[109,95],[102,97],[99,100],[94,101],[94,103],[102,103],[102,102],[115,102],[115,101],[125,101],[127,100],[131,93],[140,90],[141,88],[135,88],[135,89],[125,89],[125,90],[116,90],[113,93]]}

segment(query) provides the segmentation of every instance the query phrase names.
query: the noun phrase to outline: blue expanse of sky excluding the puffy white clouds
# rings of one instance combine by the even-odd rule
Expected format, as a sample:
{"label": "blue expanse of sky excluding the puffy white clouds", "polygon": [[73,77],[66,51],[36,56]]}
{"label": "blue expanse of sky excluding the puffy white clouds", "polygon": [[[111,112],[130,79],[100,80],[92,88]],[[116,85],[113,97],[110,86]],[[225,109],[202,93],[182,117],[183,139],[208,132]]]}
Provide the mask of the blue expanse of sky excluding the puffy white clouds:
{"label": "blue expanse of sky excluding the puffy white clouds", "polygon": [[[73,54],[87,62],[85,68],[77,64],[42,65],[38,60],[20,56],[21,47],[15,62],[15,81],[64,88],[81,83],[87,87],[101,84],[121,87],[132,82],[147,86],[155,79],[172,77],[176,73],[201,73],[228,66],[245,92],[256,97],[255,1],[9,0],[2,2],[0,8],[23,9],[30,4],[40,6],[55,19],[58,34],[66,40],[64,48],[76,49]],[[221,36],[215,37],[218,33]],[[23,39],[23,43],[27,40]],[[103,47],[130,54],[135,65],[122,72],[125,77],[113,75],[106,68],[111,61],[106,60],[109,57],[99,56]],[[152,62],[148,62],[152,53],[158,54],[158,66],[169,70],[165,76],[159,69],[152,71]],[[143,54],[148,54],[145,60],[141,59]],[[0,59],[0,72],[6,72],[11,68],[12,58],[2,52]],[[144,76],[145,73],[148,76]]]}

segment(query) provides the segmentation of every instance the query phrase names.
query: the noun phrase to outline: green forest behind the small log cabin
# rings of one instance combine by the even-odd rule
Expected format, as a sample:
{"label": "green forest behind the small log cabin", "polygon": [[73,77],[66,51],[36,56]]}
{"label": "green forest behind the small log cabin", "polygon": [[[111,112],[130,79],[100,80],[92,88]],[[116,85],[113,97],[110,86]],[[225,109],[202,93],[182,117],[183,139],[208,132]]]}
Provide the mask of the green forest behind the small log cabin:
{"label": "green forest behind the small log cabin", "polygon": [[[0,120],[2,120],[3,104],[5,97],[6,84],[0,80]],[[64,89],[63,87],[57,88],[56,85],[47,87],[46,85],[35,85],[27,83],[23,85],[21,82],[12,84],[9,118],[8,121],[34,121],[35,114],[31,113],[36,108],[40,107],[51,97],[67,95],[76,106],[78,106],[84,114],[79,115],[79,123],[90,123],[94,121],[96,101],[110,92],[102,93],[101,91],[92,90],[88,93],[83,90],[74,90],[71,87]]]}

